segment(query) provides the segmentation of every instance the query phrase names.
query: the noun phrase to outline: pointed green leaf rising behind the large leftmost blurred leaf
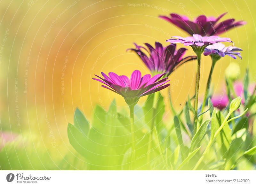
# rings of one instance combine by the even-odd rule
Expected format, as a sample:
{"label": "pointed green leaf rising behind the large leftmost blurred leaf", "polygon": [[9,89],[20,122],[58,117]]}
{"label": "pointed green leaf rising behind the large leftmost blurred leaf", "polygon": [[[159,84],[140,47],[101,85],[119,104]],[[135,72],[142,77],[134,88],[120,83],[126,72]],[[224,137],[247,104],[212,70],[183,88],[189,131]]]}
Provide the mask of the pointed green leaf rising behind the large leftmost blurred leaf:
{"label": "pointed green leaf rising behind the large leftmost blurred leaf", "polygon": [[85,136],[87,136],[90,125],[79,108],[76,108],[75,111],[74,126],[79,129]]}

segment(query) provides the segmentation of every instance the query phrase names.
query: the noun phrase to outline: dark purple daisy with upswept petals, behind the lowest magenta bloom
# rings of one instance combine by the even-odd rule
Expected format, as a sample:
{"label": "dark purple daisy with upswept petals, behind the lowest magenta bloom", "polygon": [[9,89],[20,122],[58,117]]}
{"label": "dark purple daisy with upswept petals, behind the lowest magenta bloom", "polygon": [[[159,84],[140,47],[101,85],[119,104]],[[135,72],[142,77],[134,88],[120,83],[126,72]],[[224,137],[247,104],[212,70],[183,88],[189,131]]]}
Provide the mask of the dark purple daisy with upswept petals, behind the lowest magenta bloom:
{"label": "dark purple daisy with upswept petals, behind the lowest magenta bloom", "polygon": [[147,48],[138,46],[136,43],[134,45],[135,49],[128,50],[135,51],[152,74],[167,72],[166,76],[168,77],[181,64],[196,59],[196,56],[183,58],[187,49],[180,48],[176,50],[176,44],[163,47],[161,43],[156,42],[155,48],[148,43],[145,43]]}

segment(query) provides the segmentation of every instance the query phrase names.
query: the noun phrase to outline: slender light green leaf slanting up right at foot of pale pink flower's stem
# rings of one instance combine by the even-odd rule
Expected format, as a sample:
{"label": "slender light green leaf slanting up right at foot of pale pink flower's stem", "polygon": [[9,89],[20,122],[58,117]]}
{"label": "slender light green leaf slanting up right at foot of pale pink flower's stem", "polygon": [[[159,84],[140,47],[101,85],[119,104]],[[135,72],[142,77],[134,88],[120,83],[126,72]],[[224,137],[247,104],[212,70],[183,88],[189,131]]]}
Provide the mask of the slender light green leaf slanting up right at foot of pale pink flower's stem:
{"label": "slender light green leaf slanting up right at foot of pale pink flower's stem", "polygon": [[204,123],[196,131],[195,136],[191,140],[191,146],[190,146],[190,150],[189,150],[190,152],[192,152],[197,146],[199,146],[201,140],[204,137],[205,131],[206,131],[209,123],[210,123],[210,120],[204,121]]}

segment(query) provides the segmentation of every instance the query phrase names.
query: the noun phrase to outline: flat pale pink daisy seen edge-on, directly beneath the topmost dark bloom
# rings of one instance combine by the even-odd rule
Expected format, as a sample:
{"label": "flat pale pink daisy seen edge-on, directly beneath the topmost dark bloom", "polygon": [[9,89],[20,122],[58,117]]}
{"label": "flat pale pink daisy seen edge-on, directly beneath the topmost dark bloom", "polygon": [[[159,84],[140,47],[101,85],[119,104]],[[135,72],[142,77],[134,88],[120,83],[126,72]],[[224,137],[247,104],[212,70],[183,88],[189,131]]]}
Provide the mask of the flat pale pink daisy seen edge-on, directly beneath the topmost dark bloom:
{"label": "flat pale pink daisy seen edge-on, directly beneath the topmost dark bloom", "polygon": [[210,44],[214,43],[219,43],[219,42],[229,42],[233,43],[230,41],[229,38],[227,37],[219,37],[217,35],[212,35],[212,36],[201,36],[199,34],[193,34],[193,36],[189,37],[180,37],[180,36],[173,36],[176,37],[176,39],[168,39],[166,42],[170,43],[183,43],[185,46],[207,46]]}

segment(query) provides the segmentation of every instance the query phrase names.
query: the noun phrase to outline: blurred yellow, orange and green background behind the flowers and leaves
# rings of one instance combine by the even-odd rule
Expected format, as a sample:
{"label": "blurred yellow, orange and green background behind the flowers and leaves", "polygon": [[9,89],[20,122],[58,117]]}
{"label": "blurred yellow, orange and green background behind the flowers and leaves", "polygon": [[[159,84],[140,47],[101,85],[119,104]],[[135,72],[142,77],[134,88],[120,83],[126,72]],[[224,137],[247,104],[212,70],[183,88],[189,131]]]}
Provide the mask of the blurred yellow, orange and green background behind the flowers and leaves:
{"label": "blurred yellow, orange and green background behind the flowers and leaves", "polygon": [[[255,81],[254,7],[255,1],[245,0],[1,0],[0,141],[3,136],[4,142],[19,140],[9,149],[0,145],[0,169],[86,169],[68,142],[68,122],[73,123],[76,107],[90,121],[96,104],[108,109],[114,98],[119,109],[127,109],[122,97],[92,78],[100,72],[130,75],[135,69],[148,74],[136,54],[126,52],[134,42],[167,45],[172,35],[188,36],[159,15],[175,12],[193,19],[228,12],[223,20],[246,21],[221,35],[244,50],[243,59],[226,57],[217,63],[213,93],[222,92],[232,62],[240,66],[241,78],[249,67]],[[201,96],[211,65],[209,57],[202,60]],[[179,67],[170,79],[174,106],[181,109],[194,94],[196,61]],[[164,120],[170,114],[166,99]]]}

